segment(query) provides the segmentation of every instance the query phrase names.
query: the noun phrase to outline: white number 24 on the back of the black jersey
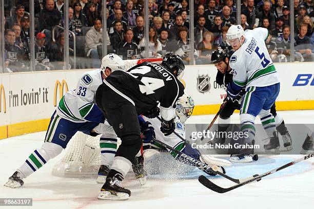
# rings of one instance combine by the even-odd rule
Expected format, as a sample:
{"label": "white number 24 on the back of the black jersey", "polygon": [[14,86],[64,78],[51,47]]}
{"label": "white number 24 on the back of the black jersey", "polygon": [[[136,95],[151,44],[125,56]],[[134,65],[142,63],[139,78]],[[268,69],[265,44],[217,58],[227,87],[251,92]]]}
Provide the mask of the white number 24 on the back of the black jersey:
{"label": "white number 24 on the back of the black jersey", "polygon": [[[130,71],[130,73],[140,73],[140,74],[146,74],[150,72],[150,67],[149,66],[141,66],[137,67],[133,70]],[[133,75],[136,76],[136,75]],[[154,90],[159,89],[165,85],[164,80],[162,79],[155,79],[155,78],[150,78],[150,77],[143,77],[141,79],[141,82],[144,85],[139,85],[140,91],[142,93],[146,93],[146,95],[155,93]]]}

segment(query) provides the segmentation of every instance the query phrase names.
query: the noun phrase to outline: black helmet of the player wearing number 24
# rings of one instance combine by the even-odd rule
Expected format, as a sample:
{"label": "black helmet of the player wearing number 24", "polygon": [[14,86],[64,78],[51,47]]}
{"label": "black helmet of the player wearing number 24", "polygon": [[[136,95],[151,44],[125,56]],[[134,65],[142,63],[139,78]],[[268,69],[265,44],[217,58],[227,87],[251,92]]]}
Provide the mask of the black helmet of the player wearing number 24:
{"label": "black helmet of the player wearing number 24", "polygon": [[183,77],[184,63],[179,55],[173,53],[167,53],[164,56],[162,65],[167,67],[173,73],[176,70],[176,77],[181,79]]}

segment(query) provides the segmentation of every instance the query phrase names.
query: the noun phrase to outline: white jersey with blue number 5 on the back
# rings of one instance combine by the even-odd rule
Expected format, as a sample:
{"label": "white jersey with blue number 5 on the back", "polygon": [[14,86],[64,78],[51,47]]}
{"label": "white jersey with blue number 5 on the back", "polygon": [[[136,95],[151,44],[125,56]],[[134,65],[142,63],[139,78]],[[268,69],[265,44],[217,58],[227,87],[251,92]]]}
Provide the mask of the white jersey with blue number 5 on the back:
{"label": "white jersey with blue number 5 on the back", "polygon": [[245,41],[235,51],[229,65],[233,73],[233,82],[239,86],[270,86],[279,83],[279,76],[274,67],[265,40],[268,30],[255,28],[244,32]]}

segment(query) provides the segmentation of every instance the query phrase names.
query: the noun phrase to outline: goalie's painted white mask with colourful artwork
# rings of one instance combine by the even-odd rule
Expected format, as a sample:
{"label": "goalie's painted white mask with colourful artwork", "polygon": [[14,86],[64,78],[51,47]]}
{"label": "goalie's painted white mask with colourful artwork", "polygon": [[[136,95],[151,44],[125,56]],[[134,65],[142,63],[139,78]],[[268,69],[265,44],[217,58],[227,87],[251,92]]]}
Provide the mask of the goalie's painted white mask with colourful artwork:
{"label": "goalie's painted white mask with colourful artwork", "polygon": [[182,123],[192,115],[194,109],[194,100],[187,94],[183,94],[178,102],[176,102],[175,114]]}

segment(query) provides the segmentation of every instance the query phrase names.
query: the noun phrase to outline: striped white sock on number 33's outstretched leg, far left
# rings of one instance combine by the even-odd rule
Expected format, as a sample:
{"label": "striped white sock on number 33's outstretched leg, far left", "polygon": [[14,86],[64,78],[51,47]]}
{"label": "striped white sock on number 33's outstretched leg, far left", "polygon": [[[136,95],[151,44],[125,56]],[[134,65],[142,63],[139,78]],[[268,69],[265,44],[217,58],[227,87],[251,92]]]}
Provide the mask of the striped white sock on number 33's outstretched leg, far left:
{"label": "striped white sock on number 33's outstretched leg, far left", "polygon": [[23,178],[26,178],[45,165],[48,160],[59,155],[62,150],[63,148],[60,145],[45,142],[41,148],[33,151],[21,167],[17,168],[17,172],[21,173]]}

